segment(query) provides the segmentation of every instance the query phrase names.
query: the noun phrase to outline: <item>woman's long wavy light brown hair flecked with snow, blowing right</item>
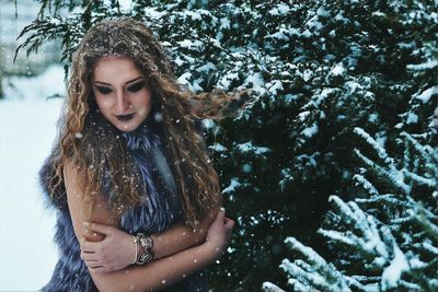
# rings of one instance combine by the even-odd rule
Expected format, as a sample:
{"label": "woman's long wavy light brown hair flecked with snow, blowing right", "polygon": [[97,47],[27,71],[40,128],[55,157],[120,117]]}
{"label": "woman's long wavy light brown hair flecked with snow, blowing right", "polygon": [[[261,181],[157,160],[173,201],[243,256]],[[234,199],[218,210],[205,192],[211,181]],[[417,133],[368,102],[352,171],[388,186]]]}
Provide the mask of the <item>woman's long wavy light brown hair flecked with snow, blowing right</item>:
{"label": "woman's long wavy light brown hair flecked with snow, blowing right", "polygon": [[[209,209],[222,203],[219,177],[195,121],[206,115],[219,116],[220,110],[211,112],[211,108],[223,108],[229,97],[224,93],[216,94],[212,103],[208,94],[194,96],[177,84],[170,60],[152,32],[141,22],[127,17],[95,24],[73,55],[68,98],[51,156],[48,184],[51,198],[57,200],[66,196],[62,167],[67,160],[80,174],[79,189],[89,207],[89,217],[95,207],[95,195],[102,192],[108,176],[115,192],[110,206],[117,217],[140,203],[141,196],[147,196],[139,170],[120,139],[120,132],[100,114],[91,90],[94,65],[105,56],[131,59],[152,90],[153,106],[149,115],[162,117],[163,143],[173,162],[171,168],[185,219],[195,226]],[[199,101],[208,106],[196,109],[194,105]]]}

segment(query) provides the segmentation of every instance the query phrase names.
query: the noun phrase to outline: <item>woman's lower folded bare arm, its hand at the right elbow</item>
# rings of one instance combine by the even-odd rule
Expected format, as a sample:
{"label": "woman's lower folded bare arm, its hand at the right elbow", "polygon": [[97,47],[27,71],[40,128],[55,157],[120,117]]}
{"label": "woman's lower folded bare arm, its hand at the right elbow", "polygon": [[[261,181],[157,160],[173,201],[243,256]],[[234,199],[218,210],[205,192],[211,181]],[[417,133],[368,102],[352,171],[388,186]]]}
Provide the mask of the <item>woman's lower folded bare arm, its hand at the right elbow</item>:
{"label": "woman's lower folded bare arm, its hand at the right elbow", "polygon": [[[69,209],[76,235],[79,240],[88,236],[89,240],[99,238],[99,234],[87,234],[83,200],[78,191],[78,172],[70,165],[65,167],[66,189]],[[103,198],[103,197],[102,197]],[[93,222],[114,224],[114,217],[97,199],[97,207],[93,214]],[[127,267],[118,271],[96,273],[90,269],[91,277],[100,291],[149,291],[162,289],[175,283],[185,276],[209,265],[224,250],[231,236],[233,221],[226,219],[219,212],[208,230],[208,241],[188,248],[173,256],[158,259],[147,266]]]}

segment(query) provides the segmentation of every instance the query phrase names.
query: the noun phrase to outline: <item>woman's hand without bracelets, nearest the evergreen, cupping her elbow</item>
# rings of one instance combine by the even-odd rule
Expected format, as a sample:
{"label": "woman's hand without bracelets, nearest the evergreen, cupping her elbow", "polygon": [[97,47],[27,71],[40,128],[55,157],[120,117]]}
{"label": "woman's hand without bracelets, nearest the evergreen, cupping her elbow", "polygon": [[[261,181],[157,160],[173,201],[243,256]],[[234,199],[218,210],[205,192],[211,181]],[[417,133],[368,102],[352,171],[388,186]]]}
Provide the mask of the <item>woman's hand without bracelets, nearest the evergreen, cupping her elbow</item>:
{"label": "woman's hand without bracelets, nearest the evergreen, cupping her elbow", "polygon": [[219,210],[215,221],[207,232],[206,245],[214,255],[214,260],[218,259],[230,244],[231,232],[234,227],[234,221],[226,218],[226,211]]}

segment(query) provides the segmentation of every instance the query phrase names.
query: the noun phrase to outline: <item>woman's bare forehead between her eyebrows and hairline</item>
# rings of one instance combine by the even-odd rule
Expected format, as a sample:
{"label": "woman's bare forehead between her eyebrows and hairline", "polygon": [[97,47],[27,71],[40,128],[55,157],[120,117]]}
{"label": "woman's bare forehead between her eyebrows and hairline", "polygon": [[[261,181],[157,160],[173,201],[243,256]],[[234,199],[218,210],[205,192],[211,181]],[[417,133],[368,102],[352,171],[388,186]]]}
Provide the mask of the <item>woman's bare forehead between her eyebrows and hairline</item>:
{"label": "woman's bare forehead between her eyebrows and hairline", "polygon": [[93,81],[118,84],[139,77],[142,77],[142,73],[135,62],[125,57],[102,57],[93,67]]}

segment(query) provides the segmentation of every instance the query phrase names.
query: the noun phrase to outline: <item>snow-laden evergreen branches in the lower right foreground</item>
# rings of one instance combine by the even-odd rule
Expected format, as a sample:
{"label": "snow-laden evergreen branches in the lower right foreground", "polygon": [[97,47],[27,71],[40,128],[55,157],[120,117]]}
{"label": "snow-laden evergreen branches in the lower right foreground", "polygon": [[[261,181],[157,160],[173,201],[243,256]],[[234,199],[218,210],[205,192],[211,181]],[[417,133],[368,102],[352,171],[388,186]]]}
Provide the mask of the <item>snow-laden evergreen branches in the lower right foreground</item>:
{"label": "snow-laden evergreen branches in the lower right foreground", "polygon": [[362,129],[355,132],[378,160],[356,150],[365,163],[354,176],[362,197],[347,203],[331,197],[334,211],[319,233],[337,257],[330,264],[288,237],[302,258],[283,260],[288,283],[296,291],[436,291],[438,150],[402,132],[404,155],[394,159]]}

